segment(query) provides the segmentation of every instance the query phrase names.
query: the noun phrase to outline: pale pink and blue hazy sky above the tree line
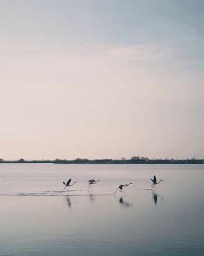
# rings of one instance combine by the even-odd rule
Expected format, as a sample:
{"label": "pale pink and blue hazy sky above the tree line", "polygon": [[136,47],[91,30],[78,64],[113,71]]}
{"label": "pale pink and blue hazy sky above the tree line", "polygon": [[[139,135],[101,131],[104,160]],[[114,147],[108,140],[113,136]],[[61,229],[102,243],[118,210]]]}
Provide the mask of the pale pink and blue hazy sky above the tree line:
{"label": "pale pink and blue hazy sky above the tree line", "polygon": [[203,11],[0,0],[0,158],[203,158]]}

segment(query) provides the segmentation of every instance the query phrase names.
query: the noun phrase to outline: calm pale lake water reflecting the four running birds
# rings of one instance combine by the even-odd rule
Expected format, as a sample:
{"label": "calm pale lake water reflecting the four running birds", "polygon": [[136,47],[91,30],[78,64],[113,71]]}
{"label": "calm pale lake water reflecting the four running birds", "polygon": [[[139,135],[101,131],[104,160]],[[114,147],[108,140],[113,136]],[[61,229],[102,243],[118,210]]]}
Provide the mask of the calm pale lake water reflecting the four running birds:
{"label": "calm pale lake water reflecting the four running birds", "polygon": [[3,256],[203,255],[204,165],[0,164],[0,202]]}

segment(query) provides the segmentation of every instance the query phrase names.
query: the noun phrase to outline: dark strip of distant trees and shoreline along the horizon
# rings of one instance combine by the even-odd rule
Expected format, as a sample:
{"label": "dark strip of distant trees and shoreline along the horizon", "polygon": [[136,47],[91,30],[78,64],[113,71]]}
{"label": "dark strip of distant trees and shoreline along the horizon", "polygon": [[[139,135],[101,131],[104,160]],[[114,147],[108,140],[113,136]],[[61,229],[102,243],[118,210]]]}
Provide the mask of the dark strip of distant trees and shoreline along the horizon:
{"label": "dark strip of distant trees and shoreline along the horizon", "polygon": [[188,158],[185,160],[175,160],[171,159],[149,159],[147,157],[139,157],[133,156],[131,159],[125,159],[122,157],[120,160],[117,159],[95,159],[89,160],[87,158],[76,158],[75,160],[62,160],[62,159],[55,159],[55,160],[24,160],[20,158],[19,160],[13,161],[6,161],[0,158],[0,163],[20,163],[20,164],[204,164],[204,159],[195,159],[195,158]]}

